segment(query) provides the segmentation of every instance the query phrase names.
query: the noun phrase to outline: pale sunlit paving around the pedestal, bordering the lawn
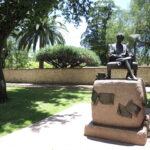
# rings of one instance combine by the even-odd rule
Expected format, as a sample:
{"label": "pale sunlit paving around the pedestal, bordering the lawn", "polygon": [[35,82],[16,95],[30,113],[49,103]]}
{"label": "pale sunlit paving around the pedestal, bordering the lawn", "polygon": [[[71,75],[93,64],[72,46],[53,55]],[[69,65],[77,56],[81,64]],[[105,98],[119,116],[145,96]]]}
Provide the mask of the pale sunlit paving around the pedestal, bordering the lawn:
{"label": "pale sunlit paving around the pedestal, bordering the lawn", "polygon": [[[150,113],[150,109],[148,109]],[[0,137],[0,150],[150,150],[145,146],[125,144],[84,136],[91,121],[91,105],[76,104],[54,116]]]}

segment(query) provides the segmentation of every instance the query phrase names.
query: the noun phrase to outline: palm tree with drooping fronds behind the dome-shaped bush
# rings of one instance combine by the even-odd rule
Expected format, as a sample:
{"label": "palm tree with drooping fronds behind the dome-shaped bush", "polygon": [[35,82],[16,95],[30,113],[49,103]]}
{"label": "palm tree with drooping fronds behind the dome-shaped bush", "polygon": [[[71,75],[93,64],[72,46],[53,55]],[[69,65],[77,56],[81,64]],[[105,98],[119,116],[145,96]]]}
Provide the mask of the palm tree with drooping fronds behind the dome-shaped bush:
{"label": "palm tree with drooping fronds behind the dome-shaped bush", "polygon": [[[62,23],[56,22],[55,18],[27,21],[27,25],[18,34],[19,49],[29,50],[33,47],[35,51],[38,43],[40,49],[46,45],[65,44],[60,30],[67,31],[67,29]],[[39,68],[43,68],[43,65],[43,62],[39,62]]]}

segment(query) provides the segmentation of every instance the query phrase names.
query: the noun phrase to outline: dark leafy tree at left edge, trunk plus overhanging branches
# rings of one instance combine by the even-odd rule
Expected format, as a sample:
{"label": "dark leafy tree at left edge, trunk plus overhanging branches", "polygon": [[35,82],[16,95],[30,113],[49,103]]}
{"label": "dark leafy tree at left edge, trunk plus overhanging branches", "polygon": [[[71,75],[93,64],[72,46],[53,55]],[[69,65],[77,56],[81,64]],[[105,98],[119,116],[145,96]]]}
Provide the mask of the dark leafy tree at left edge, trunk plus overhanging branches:
{"label": "dark leafy tree at left edge, trunk plus overhanging branches", "polygon": [[[81,0],[83,1],[83,0]],[[80,1],[80,2],[81,2]],[[89,0],[84,0],[86,4],[89,3]],[[68,1],[56,1],[56,0],[2,0],[0,1],[0,102],[4,102],[7,99],[6,94],[6,83],[4,75],[2,72],[2,51],[5,47],[6,40],[11,32],[19,27],[25,19],[37,19],[42,17],[47,17],[50,11],[53,11],[54,8],[60,8],[60,4],[63,3],[74,4],[69,6],[73,10],[71,13],[65,12],[66,19],[68,18],[71,21],[72,17],[80,21],[80,17],[84,16],[85,13],[80,13],[76,10],[86,11],[87,5],[84,3],[80,6],[77,0],[68,0]],[[67,5],[64,5],[65,8],[61,10],[67,10]],[[76,12],[75,12],[76,11]],[[82,12],[83,12],[82,11]],[[74,13],[75,12],[75,13]],[[68,15],[70,14],[70,15]]]}

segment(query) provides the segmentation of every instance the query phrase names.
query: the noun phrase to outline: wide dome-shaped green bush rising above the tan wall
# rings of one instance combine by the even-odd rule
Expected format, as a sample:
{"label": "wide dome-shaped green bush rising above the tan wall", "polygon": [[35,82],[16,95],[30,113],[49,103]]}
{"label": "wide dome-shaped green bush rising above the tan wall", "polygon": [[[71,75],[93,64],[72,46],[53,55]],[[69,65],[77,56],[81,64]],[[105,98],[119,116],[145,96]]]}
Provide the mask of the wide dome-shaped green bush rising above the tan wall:
{"label": "wide dome-shaped green bush rising above the tan wall", "polygon": [[99,57],[91,50],[72,46],[49,46],[37,54],[38,61],[45,61],[55,68],[74,68],[100,65]]}

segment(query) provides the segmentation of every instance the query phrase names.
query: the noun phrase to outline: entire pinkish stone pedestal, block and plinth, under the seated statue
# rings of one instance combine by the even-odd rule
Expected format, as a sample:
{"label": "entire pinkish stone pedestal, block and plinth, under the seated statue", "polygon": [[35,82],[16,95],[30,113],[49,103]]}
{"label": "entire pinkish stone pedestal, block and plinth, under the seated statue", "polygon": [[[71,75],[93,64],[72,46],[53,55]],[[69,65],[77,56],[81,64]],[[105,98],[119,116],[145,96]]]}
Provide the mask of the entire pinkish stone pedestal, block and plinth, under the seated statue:
{"label": "entire pinkish stone pedestal, block and plinth, under the seated statue", "polygon": [[85,135],[144,145],[149,116],[142,79],[96,80],[92,93],[92,122]]}

